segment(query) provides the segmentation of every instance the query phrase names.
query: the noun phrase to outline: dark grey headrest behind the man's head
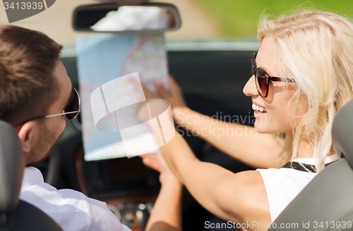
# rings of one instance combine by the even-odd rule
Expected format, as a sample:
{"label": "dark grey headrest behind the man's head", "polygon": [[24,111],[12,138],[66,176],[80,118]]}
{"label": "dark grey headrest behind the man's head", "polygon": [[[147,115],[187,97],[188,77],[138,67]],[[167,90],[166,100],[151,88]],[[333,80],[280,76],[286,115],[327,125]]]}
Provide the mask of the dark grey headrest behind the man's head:
{"label": "dark grey headrest behind the man's head", "polygon": [[0,120],[0,212],[18,203],[25,161],[22,145],[13,127]]}

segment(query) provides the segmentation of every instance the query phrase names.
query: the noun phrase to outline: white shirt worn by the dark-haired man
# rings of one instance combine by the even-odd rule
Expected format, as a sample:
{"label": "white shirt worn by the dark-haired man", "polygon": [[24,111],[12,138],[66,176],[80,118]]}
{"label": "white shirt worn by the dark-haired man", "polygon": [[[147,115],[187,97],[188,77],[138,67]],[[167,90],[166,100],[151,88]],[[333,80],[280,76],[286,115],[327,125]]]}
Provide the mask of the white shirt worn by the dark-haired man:
{"label": "white shirt worn by the dark-haired man", "polygon": [[72,189],[57,190],[44,182],[37,168],[25,168],[20,199],[47,213],[63,230],[131,231],[107,204]]}

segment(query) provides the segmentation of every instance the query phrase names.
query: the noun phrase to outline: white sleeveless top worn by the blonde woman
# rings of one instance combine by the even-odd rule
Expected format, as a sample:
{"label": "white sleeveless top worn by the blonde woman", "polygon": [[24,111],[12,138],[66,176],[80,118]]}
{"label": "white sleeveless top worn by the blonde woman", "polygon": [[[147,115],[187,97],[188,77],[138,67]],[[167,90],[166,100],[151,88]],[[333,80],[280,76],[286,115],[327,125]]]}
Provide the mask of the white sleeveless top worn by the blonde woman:
{"label": "white sleeveless top worn by the blonde woman", "polygon": [[[336,155],[326,156],[324,163],[337,160]],[[299,163],[314,165],[313,158],[297,158]],[[270,205],[271,223],[280,215],[287,205],[309,184],[316,173],[304,172],[292,168],[256,169],[263,177],[268,204]]]}

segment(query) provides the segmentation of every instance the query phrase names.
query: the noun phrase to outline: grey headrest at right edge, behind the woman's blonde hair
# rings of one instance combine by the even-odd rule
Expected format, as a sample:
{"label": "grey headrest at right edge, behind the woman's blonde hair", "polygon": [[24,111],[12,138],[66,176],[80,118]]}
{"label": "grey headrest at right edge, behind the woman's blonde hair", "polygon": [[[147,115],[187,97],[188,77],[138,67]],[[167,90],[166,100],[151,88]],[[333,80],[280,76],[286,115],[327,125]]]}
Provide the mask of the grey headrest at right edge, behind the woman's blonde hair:
{"label": "grey headrest at right edge, behind the woman's blonde hair", "polygon": [[333,120],[333,149],[353,168],[353,101],[342,106]]}

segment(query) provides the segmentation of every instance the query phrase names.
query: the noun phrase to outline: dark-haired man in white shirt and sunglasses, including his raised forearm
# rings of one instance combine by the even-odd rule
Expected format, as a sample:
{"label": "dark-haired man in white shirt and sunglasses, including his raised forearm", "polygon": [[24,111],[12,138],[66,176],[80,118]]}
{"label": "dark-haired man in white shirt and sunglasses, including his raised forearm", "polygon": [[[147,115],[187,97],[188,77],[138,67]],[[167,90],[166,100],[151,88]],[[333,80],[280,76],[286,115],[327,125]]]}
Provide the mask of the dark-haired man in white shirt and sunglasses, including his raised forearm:
{"label": "dark-haired man in white shirt and sunglasses, including his raised forearm", "polygon": [[[59,60],[61,49],[41,32],[0,26],[0,119],[18,131],[26,166],[47,158],[64,130],[64,116],[78,114],[78,94]],[[181,184],[162,162],[154,164],[161,171],[162,188],[146,230],[179,230]],[[130,230],[104,202],[71,189],[57,190],[43,182],[36,168],[25,168],[20,199],[64,230]]]}

